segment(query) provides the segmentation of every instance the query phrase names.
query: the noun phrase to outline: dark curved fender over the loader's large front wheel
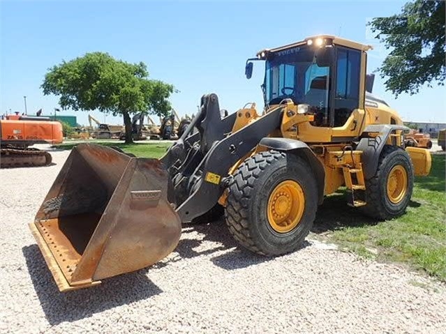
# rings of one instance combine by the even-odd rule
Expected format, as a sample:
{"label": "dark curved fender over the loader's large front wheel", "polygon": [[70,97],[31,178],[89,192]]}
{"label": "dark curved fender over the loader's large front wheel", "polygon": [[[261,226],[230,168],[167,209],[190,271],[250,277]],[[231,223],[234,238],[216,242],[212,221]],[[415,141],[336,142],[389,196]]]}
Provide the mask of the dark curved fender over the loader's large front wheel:
{"label": "dark curved fender over the loader's large front wheel", "polygon": [[265,137],[260,140],[259,145],[276,151],[290,152],[304,158],[314,171],[316,184],[318,185],[318,202],[322,204],[324,201],[325,169],[322,162],[320,162],[307,144],[296,139]]}

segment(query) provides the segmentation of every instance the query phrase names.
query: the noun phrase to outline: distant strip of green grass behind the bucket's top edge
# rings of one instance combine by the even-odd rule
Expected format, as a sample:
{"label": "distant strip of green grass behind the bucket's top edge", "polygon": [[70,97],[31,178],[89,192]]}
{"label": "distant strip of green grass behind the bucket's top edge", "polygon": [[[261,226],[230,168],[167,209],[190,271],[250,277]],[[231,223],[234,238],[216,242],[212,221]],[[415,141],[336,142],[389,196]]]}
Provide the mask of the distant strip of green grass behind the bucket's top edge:
{"label": "distant strip of green grass behind the bucket's top edge", "polygon": [[[65,149],[70,150],[73,149],[74,146],[76,146],[77,143],[64,143],[59,145],[54,145],[57,149]],[[133,153],[137,157],[141,158],[161,158],[165,151],[172,145],[172,143],[163,143],[163,142],[156,142],[156,143],[145,143],[145,142],[138,142],[135,144],[124,144],[122,142],[94,142],[94,144],[101,144],[104,146],[117,146],[119,149],[121,149],[124,152],[127,153]]]}

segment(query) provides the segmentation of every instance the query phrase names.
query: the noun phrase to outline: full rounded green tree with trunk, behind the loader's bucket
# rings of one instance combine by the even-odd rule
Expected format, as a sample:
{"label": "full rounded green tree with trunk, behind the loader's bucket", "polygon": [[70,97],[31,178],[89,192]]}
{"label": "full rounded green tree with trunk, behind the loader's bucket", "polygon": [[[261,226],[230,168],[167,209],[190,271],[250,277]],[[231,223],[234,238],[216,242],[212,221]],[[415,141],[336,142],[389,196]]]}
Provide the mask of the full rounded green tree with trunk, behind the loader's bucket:
{"label": "full rounded green tree with trunk, behind the loader's bucket", "polygon": [[95,110],[124,116],[126,143],[132,143],[131,114],[166,115],[171,84],[149,79],[144,63],[126,63],[107,53],[93,52],[50,68],[41,86],[45,95],[59,96],[62,108]]}

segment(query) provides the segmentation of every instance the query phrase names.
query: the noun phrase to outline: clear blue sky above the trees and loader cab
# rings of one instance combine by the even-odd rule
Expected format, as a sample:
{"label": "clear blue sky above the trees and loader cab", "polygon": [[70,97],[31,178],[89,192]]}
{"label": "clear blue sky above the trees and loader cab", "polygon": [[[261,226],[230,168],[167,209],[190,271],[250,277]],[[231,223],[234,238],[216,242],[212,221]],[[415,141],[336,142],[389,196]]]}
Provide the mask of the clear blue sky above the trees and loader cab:
{"label": "clear blue sky above the trees and loader cab", "polygon": [[[371,17],[398,13],[404,1],[1,1],[0,114],[53,112],[58,98],[43,96],[47,68],[86,52],[147,63],[151,78],[179,90],[172,105],[179,114],[196,112],[204,93],[217,93],[222,108],[245,103],[261,109],[263,66],[244,77],[248,57],[318,33],[371,44],[369,72],[384,59],[379,40],[366,33]],[[377,77],[374,93],[405,120],[445,122],[444,87],[424,87],[395,100]],[[75,114],[87,124],[88,112]],[[103,121],[100,112],[91,112]],[[107,123],[122,123],[107,116]]]}

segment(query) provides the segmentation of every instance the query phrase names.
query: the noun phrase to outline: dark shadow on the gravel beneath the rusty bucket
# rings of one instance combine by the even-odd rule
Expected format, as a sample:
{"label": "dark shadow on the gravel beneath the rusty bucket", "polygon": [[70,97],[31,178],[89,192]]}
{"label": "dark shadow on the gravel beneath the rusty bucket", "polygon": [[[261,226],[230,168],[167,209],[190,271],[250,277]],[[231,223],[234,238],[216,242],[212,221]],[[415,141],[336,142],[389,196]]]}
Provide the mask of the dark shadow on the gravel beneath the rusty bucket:
{"label": "dark shadow on the gravel beneath the rusty bucket", "polygon": [[31,281],[45,317],[51,325],[75,321],[119,305],[151,298],[163,291],[151,282],[144,269],[108,278],[91,289],[59,292],[37,245],[22,248]]}

